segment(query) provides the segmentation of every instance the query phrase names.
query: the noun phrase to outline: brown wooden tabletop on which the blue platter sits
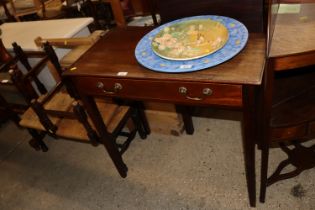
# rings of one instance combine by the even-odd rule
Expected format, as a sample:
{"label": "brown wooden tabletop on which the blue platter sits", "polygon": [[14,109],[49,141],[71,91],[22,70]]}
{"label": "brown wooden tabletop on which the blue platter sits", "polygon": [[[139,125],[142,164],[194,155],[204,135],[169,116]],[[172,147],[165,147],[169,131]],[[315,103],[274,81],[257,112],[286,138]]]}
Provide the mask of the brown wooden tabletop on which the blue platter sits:
{"label": "brown wooden tabletop on which the blue platter sits", "polygon": [[250,34],[246,47],[231,60],[190,73],[158,73],[141,66],[134,55],[138,41],[150,27],[126,27],[109,31],[75,64],[65,76],[95,76],[165,81],[261,84],[265,62],[265,35]]}

